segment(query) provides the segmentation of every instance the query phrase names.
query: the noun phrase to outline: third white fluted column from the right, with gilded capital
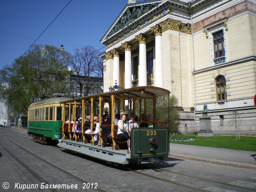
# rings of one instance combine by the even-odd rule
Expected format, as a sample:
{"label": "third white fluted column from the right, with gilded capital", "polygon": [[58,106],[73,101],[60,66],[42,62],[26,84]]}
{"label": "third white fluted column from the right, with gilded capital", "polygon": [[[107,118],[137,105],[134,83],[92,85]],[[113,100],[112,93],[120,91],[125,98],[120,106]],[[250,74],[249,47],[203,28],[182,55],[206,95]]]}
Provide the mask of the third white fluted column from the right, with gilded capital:
{"label": "third white fluted column from the right, with gilded capital", "polygon": [[124,88],[132,88],[132,47],[128,42],[122,44],[124,47]]}

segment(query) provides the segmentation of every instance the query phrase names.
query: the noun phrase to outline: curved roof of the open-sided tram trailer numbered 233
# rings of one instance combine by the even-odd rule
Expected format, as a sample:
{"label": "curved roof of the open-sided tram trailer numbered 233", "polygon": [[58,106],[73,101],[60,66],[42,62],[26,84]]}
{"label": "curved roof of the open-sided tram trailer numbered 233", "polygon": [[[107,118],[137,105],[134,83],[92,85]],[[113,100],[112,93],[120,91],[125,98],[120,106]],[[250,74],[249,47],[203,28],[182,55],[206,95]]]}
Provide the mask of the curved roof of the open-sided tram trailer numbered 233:
{"label": "curved roof of the open-sided tram trailer numbered 233", "polygon": [[[142,93],[143,91],[143,93]],[[139,97],[139,98],[153,98],[155,96],[161,96],[161,95],[168,95],[171,92],[167,89],[160,88],[160,87],[154,87],[154,86],[140,86],[140,87],[133,87],[130,89],[122,89],[118,91],[112,91],[112,92],[105,92],[101,94],[96,95],[88,95],[85,97],[79,97],[76,99],[66,100],[60,103],[68,103],[73,101],[80,101],[80,100],[88,100],[90,98],[99,98],[104,97],[106,100],[111,100],[110,96],[115,95],[115,98],[123,98],[125,97]]]}

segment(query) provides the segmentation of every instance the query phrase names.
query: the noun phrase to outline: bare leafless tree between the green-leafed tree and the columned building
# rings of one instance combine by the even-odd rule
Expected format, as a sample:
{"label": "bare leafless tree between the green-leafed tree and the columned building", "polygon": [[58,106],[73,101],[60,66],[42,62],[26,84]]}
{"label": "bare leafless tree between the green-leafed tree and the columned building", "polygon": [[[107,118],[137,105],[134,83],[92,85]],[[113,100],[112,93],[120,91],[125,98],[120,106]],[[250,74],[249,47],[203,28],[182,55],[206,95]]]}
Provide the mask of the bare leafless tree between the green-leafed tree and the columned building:
{"label": "bare leafless tree between the green-leafed tree and the columned building", "polygon": [[[84,96],[92,91],[93,86],[103,77],[103,60],[98,56],[99,52],[92,46],[74,49],[74,55],[70,57],[69,66],[73,68],[73,79],[79,84],[80,94],[83,87]],[[103,82],[98,83],[103,86]]]}

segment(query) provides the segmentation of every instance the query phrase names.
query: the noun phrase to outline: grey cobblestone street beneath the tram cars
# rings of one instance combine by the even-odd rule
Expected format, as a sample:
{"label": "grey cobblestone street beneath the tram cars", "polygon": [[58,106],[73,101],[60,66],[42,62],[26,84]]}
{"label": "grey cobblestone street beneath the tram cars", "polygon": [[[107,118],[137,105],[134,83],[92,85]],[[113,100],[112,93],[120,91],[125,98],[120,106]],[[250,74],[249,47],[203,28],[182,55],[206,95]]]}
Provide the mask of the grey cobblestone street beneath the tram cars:
{"label": "grey cobblestone street beneath the tram cars", "polygon": [[[17,183],[22,185],[38,184],[39,186],[38,189],[26,189],[23,191],[52,191],[45,188],[41,189],[40,185],[43,181],[27,170],[4,148],[12,152],[21,162],[27,165],[40,178],[43,178],[48,184],[78,185],[77,189],[56,189],[55,191],[95,191],[94,189],[82,189],[83,181],[81,180],[89,183],[97,183],[98,188],[103,191],[197,191],[196,189],[182,187],[164,180],[157,180],[133,172],[132,170],[165,180],[180,182],[181,184],[195,188],[202,188],[205,191],[256,191],[255,170],[175,158],[169,158],[167,162],[161,164],[165,167],[163,169],[152,169],[142,165],[116,166],[102,161],[91,160],[85,156],[67,153],[65,150],[57,147],[33,142],[26,131],[27,129],[0,128],[0,191],[22,191],[22,189],[14,189]],[[19,148],[11,141],[40,156],[45,161],[54,164],[56,167],[75,175],[81,180],[76,180],[68,176],[65,172],[54,168],[52,165],[46,164],[44,161]],[[246,186],[251,188],[251,190],[235,188],[233,186],[223,187],[220,183],[216,184],[212,181],[180,175],[184,173],[242,187]],[[3,189],[4,182],[9,182],[9,189]]]}

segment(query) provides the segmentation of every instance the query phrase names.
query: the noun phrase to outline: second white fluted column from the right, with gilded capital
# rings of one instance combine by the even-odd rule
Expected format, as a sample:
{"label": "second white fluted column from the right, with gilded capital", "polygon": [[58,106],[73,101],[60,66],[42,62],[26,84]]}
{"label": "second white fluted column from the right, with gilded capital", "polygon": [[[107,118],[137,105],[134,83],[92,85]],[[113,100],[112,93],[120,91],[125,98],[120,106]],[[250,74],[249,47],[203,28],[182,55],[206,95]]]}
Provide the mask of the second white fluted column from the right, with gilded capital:
{"label": "second white fluted column from the right, with gilded capital", "polygon": [[139,41],[139,86],[147,86],[146,38],[141,33],[136,39]]}

